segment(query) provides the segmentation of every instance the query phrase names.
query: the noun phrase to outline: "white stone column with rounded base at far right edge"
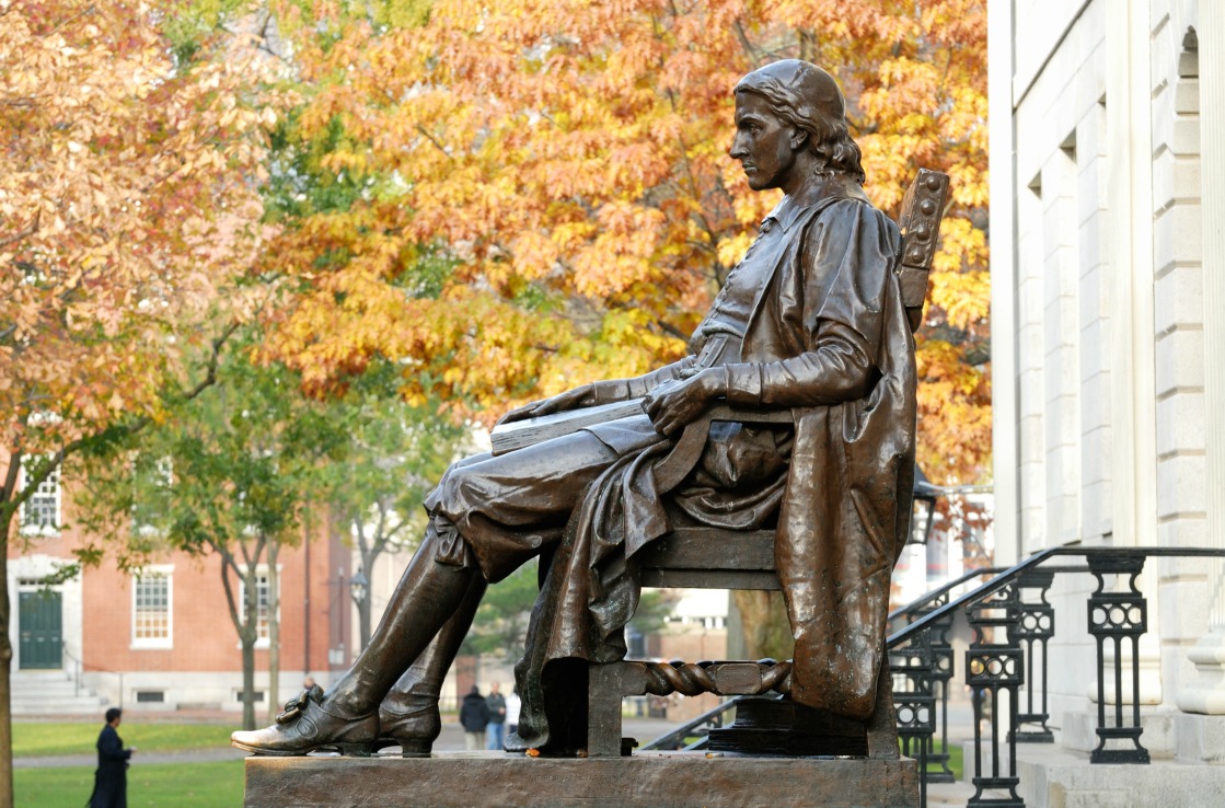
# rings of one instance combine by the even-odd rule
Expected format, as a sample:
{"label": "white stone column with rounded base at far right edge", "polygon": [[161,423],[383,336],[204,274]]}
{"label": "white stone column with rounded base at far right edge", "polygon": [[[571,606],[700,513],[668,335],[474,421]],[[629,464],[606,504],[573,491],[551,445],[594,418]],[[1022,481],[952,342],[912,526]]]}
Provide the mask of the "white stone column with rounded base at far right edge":
{"label": "white stone column with rounded base at far right edge", "polygon": [[[1225,4],[1199,2],[1199,131],[1203,178],[1207,544],[1225,548]],[[1197,677],[1178,708],[1225,715],[1225,564],[1213,562],[1209,632],[1187,653]]]}

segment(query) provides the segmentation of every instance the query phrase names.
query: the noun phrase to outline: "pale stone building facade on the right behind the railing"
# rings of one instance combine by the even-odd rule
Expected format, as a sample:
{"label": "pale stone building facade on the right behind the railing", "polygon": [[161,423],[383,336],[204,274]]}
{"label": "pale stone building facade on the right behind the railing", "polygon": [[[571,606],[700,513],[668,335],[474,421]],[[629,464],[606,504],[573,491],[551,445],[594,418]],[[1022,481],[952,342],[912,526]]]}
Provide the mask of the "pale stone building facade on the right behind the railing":
{"label": "pale stone building facade on the right behind the railing", "polygon": [[[1225,548],[1225,4],[989,9],[997,562]],[[1080,749],[1093,579],[1060,580],[1050,706]],[[1144,743],[1225,761],[1223,567],[1152,559],[1139,583]]]}

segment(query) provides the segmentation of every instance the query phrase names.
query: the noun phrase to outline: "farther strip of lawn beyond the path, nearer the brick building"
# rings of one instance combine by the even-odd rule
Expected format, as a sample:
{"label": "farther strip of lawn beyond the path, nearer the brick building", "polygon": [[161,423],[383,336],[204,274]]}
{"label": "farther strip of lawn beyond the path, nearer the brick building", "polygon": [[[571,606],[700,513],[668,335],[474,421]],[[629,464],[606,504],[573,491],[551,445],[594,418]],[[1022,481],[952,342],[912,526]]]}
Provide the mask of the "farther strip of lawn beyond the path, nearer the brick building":
{"label": "farther strip of lawn beyond the path, nearer the brick building", "polygon": [[[142,724],[134,720],[119,727],[125,747],[140,752],[175,752],[229,746],[229,733],[239,730],[229,724]],[[18,724],[12,725],[12,757],[31,758],[60,754],[96,754],[97,724]],[[138,753],[140,753],[138,752]],[[137,754],[138,754],[137,753]]]}

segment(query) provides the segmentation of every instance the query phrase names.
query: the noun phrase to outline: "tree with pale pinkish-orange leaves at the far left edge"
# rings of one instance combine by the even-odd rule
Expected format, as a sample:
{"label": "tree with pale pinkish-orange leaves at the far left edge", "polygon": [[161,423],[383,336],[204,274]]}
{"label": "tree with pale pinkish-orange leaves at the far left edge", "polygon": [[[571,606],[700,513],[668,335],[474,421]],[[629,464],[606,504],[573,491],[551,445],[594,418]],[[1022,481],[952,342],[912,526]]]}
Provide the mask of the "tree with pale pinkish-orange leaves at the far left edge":
{"label": "tree with pale pinkish-orange leaves at the far left edge", "polygon": [[[223,290],[254,253],[271,113],[251,49],[217,36],[178,59],[160,27],[170,11],[0,0],[0,558],[22,503],[65,458],[209,383],[241,309]],[[219,311],[221,326],[202,326]],[[0,569],[11,804],[5,580]]]}

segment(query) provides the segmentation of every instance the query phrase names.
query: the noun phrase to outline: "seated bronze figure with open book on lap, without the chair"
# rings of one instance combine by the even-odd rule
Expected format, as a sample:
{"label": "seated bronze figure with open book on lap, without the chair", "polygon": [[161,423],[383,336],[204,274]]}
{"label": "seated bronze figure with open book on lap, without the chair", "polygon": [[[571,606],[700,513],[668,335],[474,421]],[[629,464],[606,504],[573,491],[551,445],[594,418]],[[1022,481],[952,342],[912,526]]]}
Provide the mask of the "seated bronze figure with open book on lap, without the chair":
{"label": "seated bronze figure with open book on lap, without the chair", "polygon": [[[586,665],[624,657],[638,553],[677,518],[774,529],[795,637],[790,698],[843,719],[872,715],[914,474],[902,238],[864,193],[845,102],[827,72],[797,60],[767,65],[736,84],[735,104],[731,157],[753,190],[785,196],[728,275],[690,355],[507,414],[506,425],[643,399],[636,414],[448,469],[369,646],[326,692],[303,693],[268,728],[235,732],[234,746],[298,755],[399,744],[405,755],[429,754],[439,690],[485,586],[541,557],[548,574],[516,667],[522,715],[506,748],[582,750]],[[788,417],[717,421],[657,471],[713,405]]]}

